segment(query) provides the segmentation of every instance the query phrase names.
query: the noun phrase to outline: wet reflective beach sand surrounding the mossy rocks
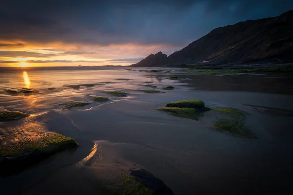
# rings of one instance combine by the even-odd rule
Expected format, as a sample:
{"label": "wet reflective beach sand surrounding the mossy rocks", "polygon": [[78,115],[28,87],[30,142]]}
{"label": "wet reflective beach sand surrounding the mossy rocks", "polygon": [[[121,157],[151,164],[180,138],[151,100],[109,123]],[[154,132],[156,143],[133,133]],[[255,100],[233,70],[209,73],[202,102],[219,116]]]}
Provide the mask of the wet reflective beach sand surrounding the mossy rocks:
{"label": "wet reflective beach sand surrounding the mossy rocks", "polygon": [[[221,76],[188,75],[190,80],[176,81],[163,78],[173,74],[127,70],[85,70],[64,78],[58,75],[60,71],[42,73],[42,80],[38,77],[40,72],[27,71],[32,75],[30,87],[40,91],[31,96],[10,96],[3,91],[25,87],[23,79],[2,82],[0,108],[34,114],[21,124],[45,124],[46,130],[72,137],[80,147],[51,156],[17,175],[0,178],[1,194],[105,194],[105,187],[131,167],[146,169],[164,181],[175,195],[283,194],[292,190],[289,176],[293,173],[293,97],[286,87],[279,93],[284,87],[281,78],[275,78],[279,90],[262,93],[266,82],[263,88],[255,83],[260,89],[256,91],[253,83],[243,82],[245,78],[251,80],[251,76],[229,78],[227,83]],[[199,78],[206,80],[205,85],[197,82]],[[241,90],[228,87],[241,84],[239,79],[243,82]],[[221,80],[226,90],[213,87]],[[105,84],[107,81],[111,83]],[[158,86],[160,91],[170,84],[175,89],[162,94],[135,91],[149,89],[141,86],[143,81],[153,82],[151,85]],[[65,87],[93,82],[98,84],[81,86],[79,90]],[[49,87],[58,90],[49,91]],[[110,90],[129,95],[121,98],[104,93]],[[111,101],[100,104],[90,96],[105,96]],[[216,131],[209,120],[213,116],[208,113],[194,121],[155,110],[184,99],[201,99],[210,107],[232,106],[250,113],[247,125],[258,139]],[[92,104],[61,110],[64,103],[73,100]],[[0,129],[7,131],[7,124],[0,123]]]}

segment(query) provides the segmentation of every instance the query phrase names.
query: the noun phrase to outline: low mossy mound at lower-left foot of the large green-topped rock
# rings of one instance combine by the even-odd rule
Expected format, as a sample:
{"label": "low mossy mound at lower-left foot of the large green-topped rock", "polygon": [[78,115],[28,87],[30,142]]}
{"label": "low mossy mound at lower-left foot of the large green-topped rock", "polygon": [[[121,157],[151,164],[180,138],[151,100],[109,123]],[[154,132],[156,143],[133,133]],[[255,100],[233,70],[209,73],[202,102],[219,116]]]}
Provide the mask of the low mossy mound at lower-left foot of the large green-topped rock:
{"label": "low mossy mound at lower-left foot of the large green-topped rock", "polygon": [[200,117],[200,114],[194,108],[161,107],[157,108],[157,110],[168,112],[175,117],[189,118],[192,120],[198,120]]}

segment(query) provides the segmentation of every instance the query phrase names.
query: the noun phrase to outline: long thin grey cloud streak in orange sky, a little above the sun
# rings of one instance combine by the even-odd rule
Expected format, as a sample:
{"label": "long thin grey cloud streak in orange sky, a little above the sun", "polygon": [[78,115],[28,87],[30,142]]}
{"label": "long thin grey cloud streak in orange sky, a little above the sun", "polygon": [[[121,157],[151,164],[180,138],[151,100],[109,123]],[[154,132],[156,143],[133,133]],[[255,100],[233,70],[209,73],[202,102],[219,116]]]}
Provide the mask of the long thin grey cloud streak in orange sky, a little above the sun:
{"label": "long thin grey cloud streak in orange sky, a little above the sun", "polygon": [[0,57],[37,57],[45,58],[56,56],[56,54],[42,54],[38,52],[27,52],[27,51],[0,51]]}

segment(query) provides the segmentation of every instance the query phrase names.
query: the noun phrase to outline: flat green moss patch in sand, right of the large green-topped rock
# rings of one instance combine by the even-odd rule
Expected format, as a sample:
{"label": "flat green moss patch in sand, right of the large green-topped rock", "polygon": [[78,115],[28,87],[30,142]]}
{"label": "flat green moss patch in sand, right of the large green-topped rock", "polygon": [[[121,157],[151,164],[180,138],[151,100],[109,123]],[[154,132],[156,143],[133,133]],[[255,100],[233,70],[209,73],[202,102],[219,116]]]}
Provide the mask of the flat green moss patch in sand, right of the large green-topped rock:
{"label": "flat green moss patch in sand, right of the large green-topped rock", "polygon": [[227,115],[228,118],[217,120],[214,126],[223,132],[236,137],[257,138],[253,132],[245,126],[246,113],[235,108],[213,108]]}

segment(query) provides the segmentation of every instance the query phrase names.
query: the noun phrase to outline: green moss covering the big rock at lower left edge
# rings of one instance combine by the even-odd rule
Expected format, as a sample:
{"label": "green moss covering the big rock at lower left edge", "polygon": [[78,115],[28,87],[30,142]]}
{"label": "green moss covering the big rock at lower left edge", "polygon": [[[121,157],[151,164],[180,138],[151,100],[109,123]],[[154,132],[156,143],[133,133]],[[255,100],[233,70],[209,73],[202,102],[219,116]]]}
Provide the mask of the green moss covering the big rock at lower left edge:
{"label": "green moss covering the big rock at lower left edge", "polygon": [[45,133],[38,138],[24,138],[0,147],[0,157],[14,157],[30,153],[54,153],[65,148],[75,147],[77,143],[70,137],[59,133]]}

